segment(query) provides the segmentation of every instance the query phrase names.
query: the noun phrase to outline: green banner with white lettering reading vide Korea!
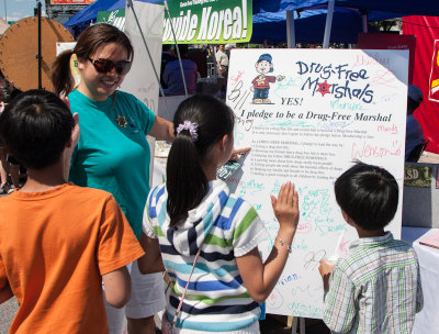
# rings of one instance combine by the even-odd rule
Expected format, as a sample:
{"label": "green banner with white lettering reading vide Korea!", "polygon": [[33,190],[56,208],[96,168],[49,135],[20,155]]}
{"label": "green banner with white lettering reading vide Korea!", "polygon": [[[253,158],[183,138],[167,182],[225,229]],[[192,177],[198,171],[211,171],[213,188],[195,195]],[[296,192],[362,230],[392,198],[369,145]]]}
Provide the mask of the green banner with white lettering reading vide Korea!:
{"label": "green banner with white lettering reading vide Korea!", "polygon": [[[178,43],[226,44],[248,42],[252,32],[251,0],[185,0],[168,2]],[[173,34],[165,13],[164,44]]]}

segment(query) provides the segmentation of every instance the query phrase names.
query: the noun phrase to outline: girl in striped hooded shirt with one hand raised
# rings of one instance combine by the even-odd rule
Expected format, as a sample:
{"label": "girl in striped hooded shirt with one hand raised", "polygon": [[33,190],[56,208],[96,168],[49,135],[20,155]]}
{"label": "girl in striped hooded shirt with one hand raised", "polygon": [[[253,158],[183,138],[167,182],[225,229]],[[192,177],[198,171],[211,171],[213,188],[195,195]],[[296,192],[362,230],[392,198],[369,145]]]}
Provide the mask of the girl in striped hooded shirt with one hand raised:
{"label": "girl in striped hooded shirt with one hand raised", "polygon": [[280,229],[262,263],[262,221],[216,179],[234,146],[233,111],[213,97],[194,96],[179,105],[173,125],[167,182],[146,203],[140,272],[166,270],[171,278],[164,315],[170,323],[189,281],[173,333],[259,333],[259,302],[274,288],[299,223],[297,192],[288,182],[271,198]]}

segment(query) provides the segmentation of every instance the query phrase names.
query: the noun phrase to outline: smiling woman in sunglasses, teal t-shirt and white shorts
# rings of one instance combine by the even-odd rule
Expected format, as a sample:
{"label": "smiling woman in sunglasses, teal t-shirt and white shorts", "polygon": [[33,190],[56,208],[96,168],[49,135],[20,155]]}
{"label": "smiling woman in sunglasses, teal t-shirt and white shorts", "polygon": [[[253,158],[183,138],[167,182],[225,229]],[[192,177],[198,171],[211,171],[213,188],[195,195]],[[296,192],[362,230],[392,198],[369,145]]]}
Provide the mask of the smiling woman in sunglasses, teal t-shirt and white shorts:
{"label": "smiling woman in sunglasses, teal t-shirt and white shorts", "polygon": [[[72,54],[81,74],[75,90],[69,68]],[[57,57],[52,79],[56,93],[68,94],[71,112],[79,114],[81,135],[71,157],[70,180],[111,192],[139,237],[149,192],[146,135],[172,142],[173,125],[134,96],[117,90],[132,59],[133,46],[123,32],[95,24],[81,33],[74,51]],[[131,275],[133,291],[125,310],[128,333],[154,333],[153,316],[165,307],[161,276],[142,276],[135,263]],[[105,307],[110,333],[122,333],[123,313]]]}

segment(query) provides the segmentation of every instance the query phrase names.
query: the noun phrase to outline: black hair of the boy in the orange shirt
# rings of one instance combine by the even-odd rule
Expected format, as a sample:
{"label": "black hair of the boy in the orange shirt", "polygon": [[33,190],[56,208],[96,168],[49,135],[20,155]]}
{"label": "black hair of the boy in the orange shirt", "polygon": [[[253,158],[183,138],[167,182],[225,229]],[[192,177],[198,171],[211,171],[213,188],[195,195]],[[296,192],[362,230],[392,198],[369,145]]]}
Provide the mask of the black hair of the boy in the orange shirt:
{"label": "black hair of the boy in the orange shirt", "polygon": [[53,92],[29,90],[0,115],[0,137],[24,167],[42,169],[56,163],[75,126],[67,105]]}

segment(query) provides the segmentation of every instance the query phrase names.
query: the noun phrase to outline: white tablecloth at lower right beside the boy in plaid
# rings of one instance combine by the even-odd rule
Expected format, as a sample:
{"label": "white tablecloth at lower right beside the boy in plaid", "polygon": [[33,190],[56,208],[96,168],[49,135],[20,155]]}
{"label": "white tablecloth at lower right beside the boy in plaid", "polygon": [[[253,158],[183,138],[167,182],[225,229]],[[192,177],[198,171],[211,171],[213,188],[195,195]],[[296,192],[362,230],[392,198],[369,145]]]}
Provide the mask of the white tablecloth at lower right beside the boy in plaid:
{"label": "white tablecloth at lower right beside the boy in plaid", "polygon": [[418,256],[424,294],[412,334],[439,334],[439,249],[419,244],[419,238],[438,230],[403,226],[402,238],[413,242]]}

